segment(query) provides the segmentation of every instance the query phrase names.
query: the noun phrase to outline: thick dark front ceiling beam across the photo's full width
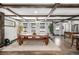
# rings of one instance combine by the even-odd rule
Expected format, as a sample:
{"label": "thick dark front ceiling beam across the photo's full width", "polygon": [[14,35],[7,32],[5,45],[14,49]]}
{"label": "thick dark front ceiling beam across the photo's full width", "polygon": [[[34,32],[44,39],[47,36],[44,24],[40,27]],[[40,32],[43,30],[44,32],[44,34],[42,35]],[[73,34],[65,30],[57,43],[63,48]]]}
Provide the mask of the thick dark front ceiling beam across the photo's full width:
{"label": "thick dark front ceiling beam across the photo's full width", "polygon": [[[20,7],[27,7],[27,8],[52,8],[54,4],[14,4],[14,3],[0,3],[0,6],[3,7],[13,7],[13,8],[20,8]],[[60,4],[58,8],[79,8],[79,4]]]}

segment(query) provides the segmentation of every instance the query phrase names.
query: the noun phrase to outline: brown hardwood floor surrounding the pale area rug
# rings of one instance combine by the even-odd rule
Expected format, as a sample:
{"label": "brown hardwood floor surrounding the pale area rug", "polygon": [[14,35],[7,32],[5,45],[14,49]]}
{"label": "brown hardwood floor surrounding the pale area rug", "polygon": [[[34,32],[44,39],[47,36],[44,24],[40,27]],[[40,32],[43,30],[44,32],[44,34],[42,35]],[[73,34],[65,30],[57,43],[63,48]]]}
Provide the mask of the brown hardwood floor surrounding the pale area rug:
{"label": "brown hardwood floor surrounding the pale area rug", "polygon": [[75,45],[71,47],[71,43],[65,41],[66,39],[63,39],[63,37],[58,36],[55,36],[52,41],[55,42],[56,38],[61,38],[58,41],[60,42],[59,47],[62,49],[61,51],[0,51],[0,55],[79,55],[79,51],[75,49]]}

